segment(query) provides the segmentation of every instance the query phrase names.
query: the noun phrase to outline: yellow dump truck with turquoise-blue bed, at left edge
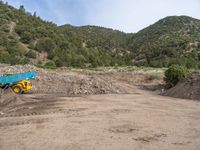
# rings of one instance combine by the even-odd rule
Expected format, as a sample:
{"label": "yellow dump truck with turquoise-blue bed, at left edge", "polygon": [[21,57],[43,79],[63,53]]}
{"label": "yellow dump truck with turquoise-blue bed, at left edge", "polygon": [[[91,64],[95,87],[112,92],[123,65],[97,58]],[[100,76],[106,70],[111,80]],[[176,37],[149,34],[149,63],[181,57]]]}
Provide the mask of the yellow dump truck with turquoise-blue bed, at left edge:
{"label": "yellow dump truck with turquoise-blue bed, at left edge", "polygon": [[16,94],[23,94],[32,89],[30,79],[34,78],[36,78],[35,71],[0,75],[0,88],[3,90],[11,88]]}

